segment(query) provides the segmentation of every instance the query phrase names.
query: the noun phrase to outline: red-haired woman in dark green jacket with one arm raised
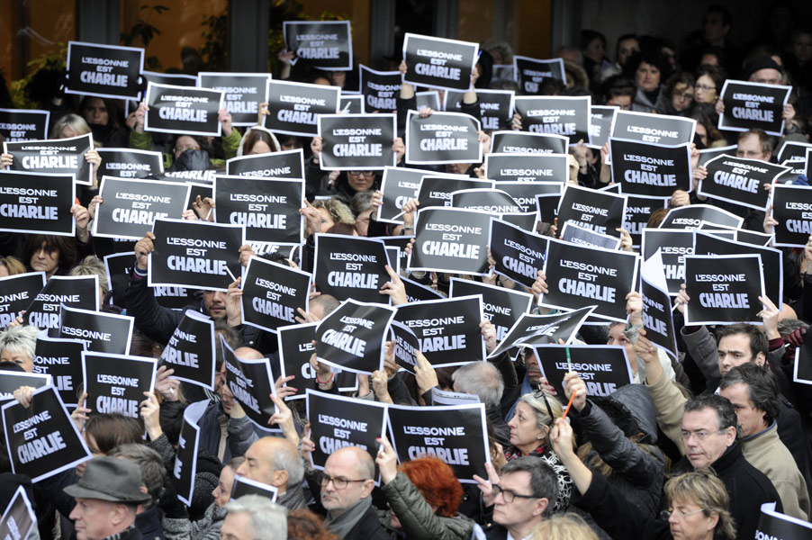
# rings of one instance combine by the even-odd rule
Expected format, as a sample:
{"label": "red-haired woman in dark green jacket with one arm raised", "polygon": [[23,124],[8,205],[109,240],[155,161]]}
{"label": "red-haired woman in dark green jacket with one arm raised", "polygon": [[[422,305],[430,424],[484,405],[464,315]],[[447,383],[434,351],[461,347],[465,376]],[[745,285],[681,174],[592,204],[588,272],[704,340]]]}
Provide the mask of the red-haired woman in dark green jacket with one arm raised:
{"label": "red-haired woman in dark green jacket with one arm raised", "polygon": [[421,457],[397,465],[397,456],[385,438],[375,463],[381,472],[383,494],[389,503],[391,523],[409,540],[465,540],[474,521],[456,510],[463,488],[454,471],[436,457]]}

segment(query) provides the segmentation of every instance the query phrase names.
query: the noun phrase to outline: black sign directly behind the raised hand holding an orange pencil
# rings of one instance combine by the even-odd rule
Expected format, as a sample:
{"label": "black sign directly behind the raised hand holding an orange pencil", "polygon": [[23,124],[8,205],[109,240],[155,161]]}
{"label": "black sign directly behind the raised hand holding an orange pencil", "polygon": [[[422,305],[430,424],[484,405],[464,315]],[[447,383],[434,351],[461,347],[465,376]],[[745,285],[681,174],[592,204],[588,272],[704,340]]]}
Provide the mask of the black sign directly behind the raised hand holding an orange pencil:
{"label": "black sign directly behind the raised hand holding an orange pencil", "polygon": [[562,383],[571,366],[586,383],[589,397],[606,397],[632,383],[626,349],[619,345],[544,345],[536,347],[536,357],[541,374],[560,396],[565,395]]}

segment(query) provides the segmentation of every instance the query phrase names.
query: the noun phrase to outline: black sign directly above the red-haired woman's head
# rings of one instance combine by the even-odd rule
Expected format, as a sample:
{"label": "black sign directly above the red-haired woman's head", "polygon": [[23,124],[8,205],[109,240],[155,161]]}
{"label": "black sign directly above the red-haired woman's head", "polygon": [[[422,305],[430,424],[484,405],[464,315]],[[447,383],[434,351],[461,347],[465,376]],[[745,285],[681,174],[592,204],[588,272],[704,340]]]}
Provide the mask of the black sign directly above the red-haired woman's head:
{"label": "black sign directly above the red-haired woman's head", "polygon": [[438,457],[454,469],[462,483],[482,477],[491,463],[483,403],[408,407],[390,405],[389,433],[401,463],[419,457]]}

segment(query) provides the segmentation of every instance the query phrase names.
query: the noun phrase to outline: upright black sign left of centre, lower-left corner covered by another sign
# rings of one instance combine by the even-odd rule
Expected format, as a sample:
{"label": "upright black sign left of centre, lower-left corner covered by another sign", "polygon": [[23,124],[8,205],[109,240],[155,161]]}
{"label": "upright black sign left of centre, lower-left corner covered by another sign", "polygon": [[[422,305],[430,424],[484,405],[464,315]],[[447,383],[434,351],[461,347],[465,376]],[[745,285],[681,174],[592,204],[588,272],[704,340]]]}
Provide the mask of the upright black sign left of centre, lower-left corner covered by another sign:
{"label": "upright black sign left of centre, lower-left corner covered by another sign", "polygon": [[302,242],[304,181],[214,177],[214,221],[242,225],[245,239],[289,246]]}

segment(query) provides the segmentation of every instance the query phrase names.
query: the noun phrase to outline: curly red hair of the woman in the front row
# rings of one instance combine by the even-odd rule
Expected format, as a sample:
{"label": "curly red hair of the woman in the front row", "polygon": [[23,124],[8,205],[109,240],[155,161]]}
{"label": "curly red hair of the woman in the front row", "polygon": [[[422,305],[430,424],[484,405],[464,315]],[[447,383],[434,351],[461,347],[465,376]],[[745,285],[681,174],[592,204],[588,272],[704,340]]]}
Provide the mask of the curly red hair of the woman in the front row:
{"label": "curly red hair of the woman in the front row", "polygon": [[437,457],[420,457],[402,463],[399,469],[409,477],[434,513],[452,518],[463,501],[463,487],[454,471]]}

